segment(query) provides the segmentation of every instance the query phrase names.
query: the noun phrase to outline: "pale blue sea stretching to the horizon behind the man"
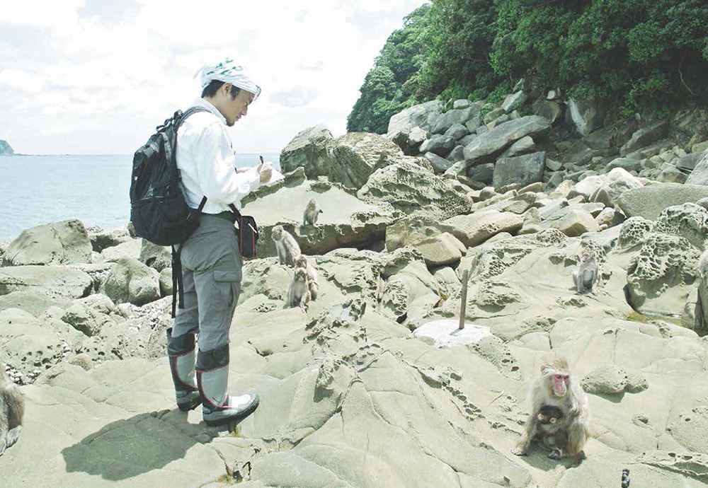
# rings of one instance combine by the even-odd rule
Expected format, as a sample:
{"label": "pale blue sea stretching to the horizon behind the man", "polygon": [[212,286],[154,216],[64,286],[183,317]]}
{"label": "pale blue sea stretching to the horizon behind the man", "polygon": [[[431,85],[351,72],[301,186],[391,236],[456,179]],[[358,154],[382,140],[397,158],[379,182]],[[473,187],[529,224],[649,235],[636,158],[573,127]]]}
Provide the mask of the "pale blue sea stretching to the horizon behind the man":
{"label": "pale blue sea stretching to the horizon behind the man", "polygon": [[[236,154],[236,166],[280,169],[279,153]],[[106,231],[130,221],[132,154],[13,154],[0,156],[0,240],[26,228],[79,219]]]}

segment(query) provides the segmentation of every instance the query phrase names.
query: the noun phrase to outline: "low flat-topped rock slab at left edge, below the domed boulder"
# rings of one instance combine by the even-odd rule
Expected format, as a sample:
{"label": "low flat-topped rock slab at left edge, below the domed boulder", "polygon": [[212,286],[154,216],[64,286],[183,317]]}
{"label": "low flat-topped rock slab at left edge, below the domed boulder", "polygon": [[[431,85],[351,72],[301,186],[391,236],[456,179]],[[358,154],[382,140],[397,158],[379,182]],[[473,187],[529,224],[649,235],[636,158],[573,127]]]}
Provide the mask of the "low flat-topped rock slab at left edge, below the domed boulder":
{"label": "low flat-topped rock slab at left edge, below the domed boulder", "polygon": [[0,295],[40,290],[50,298],[81,298],[91,293],[88,274],[67,266],[15,266],[0,268]]}

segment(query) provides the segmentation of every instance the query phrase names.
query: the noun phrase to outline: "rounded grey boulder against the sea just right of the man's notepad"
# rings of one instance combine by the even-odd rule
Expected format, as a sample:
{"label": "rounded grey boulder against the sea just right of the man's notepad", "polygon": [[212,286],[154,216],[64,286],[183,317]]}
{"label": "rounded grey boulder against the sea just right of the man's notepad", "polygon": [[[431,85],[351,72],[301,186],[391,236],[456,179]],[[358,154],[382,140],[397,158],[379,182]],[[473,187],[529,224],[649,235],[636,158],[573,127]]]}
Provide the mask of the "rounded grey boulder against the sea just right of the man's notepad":
{"label": "rounded grey boulder against the sea just right of the man's notepad", "polygon": [[280,151],[280,169],[290,173],[302,166],[311,180],[329,175],[327,144],[332,140],[332,133],[324,125],[307,127],[298,132]]}

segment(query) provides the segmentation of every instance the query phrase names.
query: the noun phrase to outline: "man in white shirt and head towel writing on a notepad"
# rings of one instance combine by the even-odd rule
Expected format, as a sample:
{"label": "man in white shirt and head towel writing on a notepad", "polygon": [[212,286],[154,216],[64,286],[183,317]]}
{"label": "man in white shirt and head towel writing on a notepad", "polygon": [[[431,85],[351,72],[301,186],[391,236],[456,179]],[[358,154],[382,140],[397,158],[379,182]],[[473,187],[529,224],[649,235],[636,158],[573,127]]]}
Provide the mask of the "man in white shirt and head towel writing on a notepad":
{"label": "man in white shirt and head towel writing on a notepad", "polygon": [[[229,328],[241,293],[241,252],[229,209],[270,180],[270,163],[235,170],[235,154],[226,126],[244,117],[261,93],[232,59],[203,67],[202,96],[193,105],[206,111],[190,115],[177,132],[177,167],[187,204],[199,209],[199,228],[181,250],[184,308],[167,330],[170,369],[177,405],[202,404],[209,425],[243,419],[258,407],[258,395],[227,393]],[[206,199],[202,202],[202,199]],[[195,352],[195,334],[199,350]],[[196,373],[196,381],[195,381]]]}

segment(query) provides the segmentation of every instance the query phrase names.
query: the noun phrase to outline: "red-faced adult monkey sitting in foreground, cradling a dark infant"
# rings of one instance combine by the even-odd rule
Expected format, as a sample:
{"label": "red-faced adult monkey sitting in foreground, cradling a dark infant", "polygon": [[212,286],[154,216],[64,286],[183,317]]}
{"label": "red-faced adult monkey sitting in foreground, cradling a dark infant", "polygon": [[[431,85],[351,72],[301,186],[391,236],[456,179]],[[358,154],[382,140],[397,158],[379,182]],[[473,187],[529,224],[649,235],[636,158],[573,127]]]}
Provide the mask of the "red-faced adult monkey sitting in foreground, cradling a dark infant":
{"label": "red-faced adult monkey sitting in foreground, cradling a dark infant", "polygon": [[[580,385],[571,379],[568,361],[559,358],[549,364],[541,366],[541,374],[531,387],[531,414],[526,422],[525,432],[519,438],[515,448],[511,450],[515,455],[526,455],[531,441],[542,432],[539,428],[539,414],[542,407],[557,407],[562,417],[556,418],[555,440],[559,440],[558,433],[564,433],[567,439],[564,445],[557,446],[560,454],[567,453],[573,457],[583,451],[583,446],[590,436],[588,431],[588,397],[581,390]],[[555,451],[551,452],[554,455]],[[550,456],[549,456],[550,457]]]}

